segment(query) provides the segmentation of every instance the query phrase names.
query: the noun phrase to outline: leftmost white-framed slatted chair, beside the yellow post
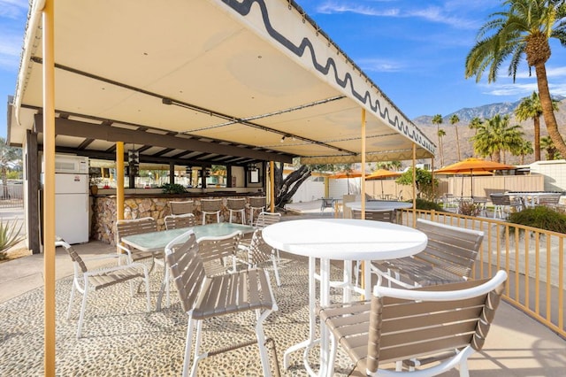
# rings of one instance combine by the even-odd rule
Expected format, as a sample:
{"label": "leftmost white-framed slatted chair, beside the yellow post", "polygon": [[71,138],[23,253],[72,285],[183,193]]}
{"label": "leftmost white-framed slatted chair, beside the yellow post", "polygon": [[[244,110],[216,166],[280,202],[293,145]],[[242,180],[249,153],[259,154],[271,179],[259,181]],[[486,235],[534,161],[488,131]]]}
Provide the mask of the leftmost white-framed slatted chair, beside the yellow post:
{"label": "leftmost white-framed slatted chair, beside the yellow post", "polygon": [[[126,281],[131,282],[134,279],[141,279],[145,282],[145,295],[147,299],[148,312],[151,310],[149,304],[149,276],[148,267],[146,265],[143,265],[142,263],[132,263],[106,268],[88,269],[83,258],[80,258],[80,255],[73,249],[73,246],[61,238],[57,237],[56,239],[57,241],[55,242],[55,246],[63,247],[69,254],[69,257],[73,260],[73,288],[71,289],[69,306],[67,308],[67,319],[71,318],[75,292],[79,292],[82,295],[79,324],[77,325],[77,338],[80,338],[82,335],[82,325],[84,323],[85,311],[87,309],[88,293],[91,291],[98,291]],[[110,260],[112,258],[119,258],[119,255],[109,254],[89,259]],[[134,287],[132,284],[130,284],[130,294],[131,296],[134,296]]]}

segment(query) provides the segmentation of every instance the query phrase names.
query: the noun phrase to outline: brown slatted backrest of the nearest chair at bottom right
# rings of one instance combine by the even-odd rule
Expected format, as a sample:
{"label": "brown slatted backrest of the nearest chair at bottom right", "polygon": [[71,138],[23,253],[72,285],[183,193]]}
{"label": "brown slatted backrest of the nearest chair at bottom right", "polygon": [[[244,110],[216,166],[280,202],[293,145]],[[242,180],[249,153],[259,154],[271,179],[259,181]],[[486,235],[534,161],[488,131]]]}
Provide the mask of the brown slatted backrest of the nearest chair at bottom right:
{"label": "brown slatted backrest of the nearest chair at bottom right", "polygon": [[[503,272],[498,274],[499,279],[507,277]],[[391,298],[390,295],[394,296],[395,291],[402,292],[402,289],[376,288],[376,292],[384,292],[384,297],[378,293],[371,298],[372,311],[374,307],[379,311],[372,312],[370,316],[370,327],[379,327],[379,344],[372,344],[370,340],[367,345],[368,359],[376,360],[371,364],[371,371],[375,371],[379,363],[417,358],[468,345],[475,350],[481,349],[504,289],[504,280],[499,281],[503,282],[466,281],[411,289],[413,292],[439,292],[439,296],[428,299],[421,296],[413,296],[414,299]],[[482,289],[467,296],[440,298],[442,291],[474,289],[483,284],[486,285]],[[412,292],[402,294],[407,296]]]}

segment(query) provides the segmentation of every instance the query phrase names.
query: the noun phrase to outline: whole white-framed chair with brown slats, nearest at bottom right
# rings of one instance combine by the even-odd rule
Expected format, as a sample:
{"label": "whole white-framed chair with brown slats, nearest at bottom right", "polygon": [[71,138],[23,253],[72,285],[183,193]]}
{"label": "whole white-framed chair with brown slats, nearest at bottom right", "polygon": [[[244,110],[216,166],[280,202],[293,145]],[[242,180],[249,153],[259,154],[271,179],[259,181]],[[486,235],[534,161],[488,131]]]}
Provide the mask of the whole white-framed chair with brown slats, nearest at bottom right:
{"label": "whole white-framed chair with brown slats, nearest at bottom right", "polygon": [[[328,375],[339,344],[357,375],[434,376],[458,365],[468,376],[467,360],[486,342],[506,279],[499,271],[491,280],[420,289],[376,285],[371,302],[319,308],[332,335]],[[380,368],[388,363],[395,368]]]}

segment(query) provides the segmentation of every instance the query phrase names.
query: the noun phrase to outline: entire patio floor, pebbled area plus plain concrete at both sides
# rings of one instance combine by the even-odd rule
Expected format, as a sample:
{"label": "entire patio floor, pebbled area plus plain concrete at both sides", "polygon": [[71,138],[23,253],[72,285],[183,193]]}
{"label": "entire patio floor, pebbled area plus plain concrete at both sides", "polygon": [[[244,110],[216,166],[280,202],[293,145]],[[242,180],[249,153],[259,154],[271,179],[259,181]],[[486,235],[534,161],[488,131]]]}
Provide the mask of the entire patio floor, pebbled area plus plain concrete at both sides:
{"label": "entire patio floor, pebbled area plus plain concrete at both sides", "polygon": [[[309,216],[314,217],[312,213]],[[320,213],[317,214],[320,216]],[[330,216],[330,213],[324,216]],[[302,218],[286,215],[284,219]],[[75,245],[81,255],[113,252],[102,242]],[[282,287],[275,288],[279,312],[265,323],[265,331],[277,345],[279,365],[283,350],[306,336],[308,296],[307,267],[303,259],[282,254]],[[42,374],[42,255],[0,264],[0,375]],[[180,375],[186,315],[177,300],[164,312],[145,313],[143,300],[130,302],[119,292],[93,296],[88,306],[85,338],[74,337],[78,315],[65,319],[71,287],[72,264],[65,251],[57,250],[57,375]],[[336,269],[334,273],[340,274]],[[160,273],[152,275],[152,304],[157,298]],[[251,319],[250,319],[251,320]],[[206,336],[220,339],[248,335],[248,323],[230,319],[229,328],[208,327]],[[241,327],[240,325],[246,325]],[[210,338],[209,338],[210,339]],[[65,355],[65,357],[62,357]],[[311,356],[316,359],[316,355]],[[300,352],[291,359],[284,375],[305,375]],[[344,355],[337,375],[348,373]],[[273,360],[271,361],[273,365]],[[470,359],[472,376],[562,376],[566,370],[566,342],[509,304],[501,304],[486,347]],[[204,360],[199,375],[261,375],[256,347]],[[448,376],[455,376],[452,371]]]}

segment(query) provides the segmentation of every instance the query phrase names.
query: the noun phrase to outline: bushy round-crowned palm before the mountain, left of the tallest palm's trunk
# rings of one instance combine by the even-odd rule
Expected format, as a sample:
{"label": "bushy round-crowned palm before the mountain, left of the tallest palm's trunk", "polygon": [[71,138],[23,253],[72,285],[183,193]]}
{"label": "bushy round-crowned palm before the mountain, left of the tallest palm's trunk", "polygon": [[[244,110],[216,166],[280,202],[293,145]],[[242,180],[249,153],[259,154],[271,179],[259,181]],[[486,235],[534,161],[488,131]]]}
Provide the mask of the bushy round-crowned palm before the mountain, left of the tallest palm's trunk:
{"label": "bushy round-crowned palm before the mountain, left of the tallest palm's trunk", "polygon": [[489,156],[493,161],[501,162],[501,153],[505,161],[505,151],[514,150],[523,143],[521,126],[509,126],[509,116],[501,118],[497,114],[478,127],[478,134],[471,139],[474,150],[481,157]]}

